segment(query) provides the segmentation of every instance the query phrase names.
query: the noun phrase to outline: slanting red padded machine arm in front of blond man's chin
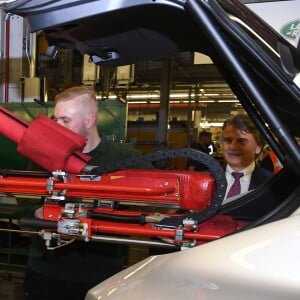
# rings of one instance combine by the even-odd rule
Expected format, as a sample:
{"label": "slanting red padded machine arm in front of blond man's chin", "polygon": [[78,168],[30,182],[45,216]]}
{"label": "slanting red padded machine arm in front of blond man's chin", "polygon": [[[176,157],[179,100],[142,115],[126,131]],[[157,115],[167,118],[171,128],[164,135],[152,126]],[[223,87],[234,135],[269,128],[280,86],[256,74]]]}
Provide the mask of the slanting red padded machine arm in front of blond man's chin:
{"label": "slanting red padded machine arm in front of blond man's chin", "polygon": [[0,124],[0,134],[18,144],[19,153],[50,172],[80,173],[91,159],[81,152],[86,142],[82,136],[47,116],[40,115],[28,123],[0,107]]}

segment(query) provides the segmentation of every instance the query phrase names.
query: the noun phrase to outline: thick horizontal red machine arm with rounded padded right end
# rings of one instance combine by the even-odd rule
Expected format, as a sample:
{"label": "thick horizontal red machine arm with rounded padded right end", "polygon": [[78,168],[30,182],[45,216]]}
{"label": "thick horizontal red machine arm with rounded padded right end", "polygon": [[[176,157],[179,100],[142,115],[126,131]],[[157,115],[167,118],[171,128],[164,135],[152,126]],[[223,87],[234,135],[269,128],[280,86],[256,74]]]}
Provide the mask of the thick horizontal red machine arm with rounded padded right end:
{"label": "thick horizontal red machine arm with rounded padded right end", "polygon": [[130,169],[112,172],[93,181],[83,178],[69,175],[67,182],[64,182],[55,178],[1,176],[0,192],[144,201],[203,210],[211,204],[215,191],[213,177],[200,172]]}

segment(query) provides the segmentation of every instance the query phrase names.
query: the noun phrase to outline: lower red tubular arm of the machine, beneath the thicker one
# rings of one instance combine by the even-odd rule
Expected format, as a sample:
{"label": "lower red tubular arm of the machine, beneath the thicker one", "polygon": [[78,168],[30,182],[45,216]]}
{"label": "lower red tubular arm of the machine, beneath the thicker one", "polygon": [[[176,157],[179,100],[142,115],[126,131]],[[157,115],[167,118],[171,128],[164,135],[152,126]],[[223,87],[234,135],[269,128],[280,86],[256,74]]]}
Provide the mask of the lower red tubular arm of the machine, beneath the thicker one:
{"label": "lower red tubular arm of the machine, beneath the thicker one", "polygon": [[[44,205],[44,216],[46,220],[52,221],[64,221],[65,217],[62,217],[62,207],[56,204]],[[110,211],[106,209],[96,209],[95,211],[107,213],[107,215],[113,216],[141,216],[141,212],[120,212]],[[148,213],[151,216],[151,213]],[[170,217],[172,215],[169,215]],[[88,238],[91,238],[94,234],[110,234],[114,236],[139,236],[147,238],[161,238],[172,240],[175,244],[182,244],[184,242],[195,241],[196,245],[206,243],[225,235],[233,233],[243,226],[244,222],[236,221],[230,216],[216,215],[209,220],[206,220],[195,226],[184,226],[182,228],[167,228],[160,227],[159,225],[150,222],[143,224],[128,223],[128,222],[113,222],[106,220],[95,220],[91,218],[76,218],[80,220],[81,224],[88,225]],[[179,233],[180,232],[180,233]]]}

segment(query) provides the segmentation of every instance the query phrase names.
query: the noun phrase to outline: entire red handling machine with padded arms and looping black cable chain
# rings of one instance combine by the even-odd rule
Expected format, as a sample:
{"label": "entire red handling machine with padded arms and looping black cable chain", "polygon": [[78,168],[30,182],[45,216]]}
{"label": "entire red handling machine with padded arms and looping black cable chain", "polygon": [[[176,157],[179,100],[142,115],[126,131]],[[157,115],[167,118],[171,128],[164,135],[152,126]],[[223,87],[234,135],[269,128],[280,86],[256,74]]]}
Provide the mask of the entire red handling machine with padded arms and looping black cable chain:
{"label": "entire red handling machine with padded arms and looping black cable chain", "polygon": [[[214,216],[226,180],[219,163],[205,153],[158,152],[107,169],[89,166],[90,157],[81,152],[85,139],[46,116],[27,123],[2,107],[0,123],[1,134],[45,170],[1,170],[0,192],[43,197],[44,220],[22,219],[21,224],[42,229],[38,234],[49,249],[77,238],[185,249],[244,225],[229,216]],[[209,172],[122,168],[170,155],[200,160]]]}

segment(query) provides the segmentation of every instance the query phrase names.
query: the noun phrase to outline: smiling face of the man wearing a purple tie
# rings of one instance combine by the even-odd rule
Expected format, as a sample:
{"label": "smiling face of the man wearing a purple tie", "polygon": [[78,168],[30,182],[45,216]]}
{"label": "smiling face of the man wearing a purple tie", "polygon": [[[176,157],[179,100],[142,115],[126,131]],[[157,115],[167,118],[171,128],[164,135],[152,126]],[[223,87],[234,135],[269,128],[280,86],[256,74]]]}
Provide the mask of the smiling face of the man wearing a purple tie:
{"label": "smiling face of the man wearing a purple tie", "polygon": [[235,171],[249,166],[261,151],[253,134],[237,130],[233,126],[226,126],[224,129],[222,146],[226,162]]}

